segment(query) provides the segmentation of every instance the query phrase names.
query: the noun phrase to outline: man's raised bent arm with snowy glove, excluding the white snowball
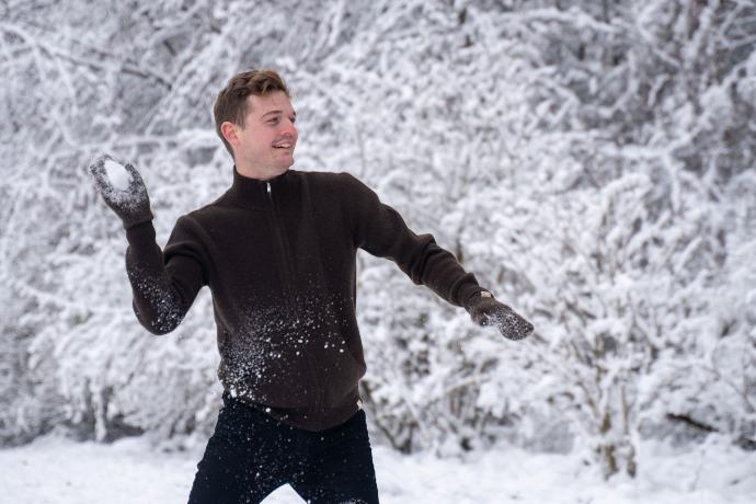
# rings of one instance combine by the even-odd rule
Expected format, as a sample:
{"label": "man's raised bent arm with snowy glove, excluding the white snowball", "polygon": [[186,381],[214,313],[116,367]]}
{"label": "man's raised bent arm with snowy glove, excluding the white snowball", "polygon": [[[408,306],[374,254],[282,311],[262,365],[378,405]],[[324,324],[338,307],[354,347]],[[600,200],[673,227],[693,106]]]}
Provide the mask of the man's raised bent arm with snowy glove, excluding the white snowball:
{"label": "man's raised bent arm with snowy glove, excluding the white snowball", "polygon": [[[125,175],[118,172],[124,169]],[[179,219],[163,253],[156,242],[149,196],[139,172],[110,156],[99,158],[89,171],[95,188],[126,230],[129,244],[126,272],[139,323],[153,334],[173,331],[207,283],[199,247],[190,232],[188,219]],[[108,174],[126,180],[116,186]]]}

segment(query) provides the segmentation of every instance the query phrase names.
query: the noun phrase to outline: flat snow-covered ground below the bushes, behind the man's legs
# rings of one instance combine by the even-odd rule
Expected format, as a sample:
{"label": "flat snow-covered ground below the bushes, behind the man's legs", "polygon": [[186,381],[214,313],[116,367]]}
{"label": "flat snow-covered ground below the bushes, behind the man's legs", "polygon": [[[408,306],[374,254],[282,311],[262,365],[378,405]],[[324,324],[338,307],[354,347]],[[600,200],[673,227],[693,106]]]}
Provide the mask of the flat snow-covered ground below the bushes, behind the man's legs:
{"label": "flat snow-covered ground below the bushes, behind the man's legs", "polygon": [[[0,503],[184,503],[202,448],[161,453],[139,438],[112,445],[45,437],[0,450]],[[602,481],[574,456],[500,448],[465,460],[374,448],[382,503],[751,504],[756,453],[710,436],[685,450],[641,447],[635,480]],[[289,488],[266,504],[301,503]]]}

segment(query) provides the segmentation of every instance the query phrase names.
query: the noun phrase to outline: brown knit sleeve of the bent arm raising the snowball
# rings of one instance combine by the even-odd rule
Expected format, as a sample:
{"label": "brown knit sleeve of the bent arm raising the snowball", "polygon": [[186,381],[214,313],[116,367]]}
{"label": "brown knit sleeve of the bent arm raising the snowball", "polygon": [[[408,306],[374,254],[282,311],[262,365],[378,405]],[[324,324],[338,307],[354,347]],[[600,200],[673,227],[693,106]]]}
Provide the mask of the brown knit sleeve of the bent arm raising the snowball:
{"label": "brown knit sleeve of the bent arm raising the snowball", "polygon": [[151,221],[126,232],[126,272],[134,312],[152,334],[167,334],[184,319],[199,289],[207,285],[203,247],[193,220],[179,218],[164,251],[156,243]]}

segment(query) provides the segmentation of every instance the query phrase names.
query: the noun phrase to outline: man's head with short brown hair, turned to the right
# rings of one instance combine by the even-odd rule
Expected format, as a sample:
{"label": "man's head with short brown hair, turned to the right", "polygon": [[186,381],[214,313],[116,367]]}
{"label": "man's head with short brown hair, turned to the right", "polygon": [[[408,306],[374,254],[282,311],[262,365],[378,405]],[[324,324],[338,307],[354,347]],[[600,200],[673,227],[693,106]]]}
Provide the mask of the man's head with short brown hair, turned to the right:
{"label": "man's head with short brown hair, turned to the right", "polygon": [[218,94],[214,114],[216,131],[242,175],[271,179],[294,163],[297,114],[275,71],[233,76]]}

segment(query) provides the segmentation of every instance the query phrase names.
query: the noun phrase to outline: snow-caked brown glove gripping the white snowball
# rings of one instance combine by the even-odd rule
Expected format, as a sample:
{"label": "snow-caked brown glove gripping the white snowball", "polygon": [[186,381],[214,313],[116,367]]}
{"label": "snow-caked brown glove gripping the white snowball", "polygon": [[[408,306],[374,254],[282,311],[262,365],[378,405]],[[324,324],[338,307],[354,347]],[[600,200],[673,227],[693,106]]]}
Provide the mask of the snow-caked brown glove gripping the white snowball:
{"label": "snow-caked brown glove gripping the white snowball", "polygon": [[[113,185],[107,177],[106,162],[118,164],[122,167],[117,168],[118,170],[125,169],[128,172],[127,187],[121,188]],[[145,182],[136,168],[131,164],[116,161],[108,154],[103,154],[89,167],[89,172],[94,179],[94,186],[102,195],[105,204],[121,217],[124,229],[152,220],[147,187],[145,187]]]}

